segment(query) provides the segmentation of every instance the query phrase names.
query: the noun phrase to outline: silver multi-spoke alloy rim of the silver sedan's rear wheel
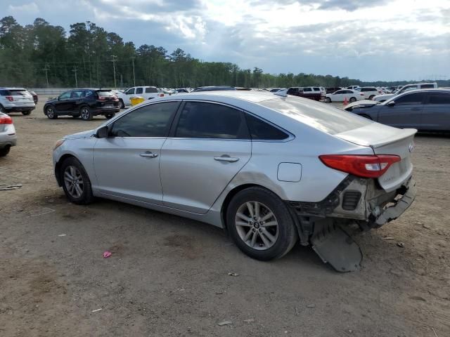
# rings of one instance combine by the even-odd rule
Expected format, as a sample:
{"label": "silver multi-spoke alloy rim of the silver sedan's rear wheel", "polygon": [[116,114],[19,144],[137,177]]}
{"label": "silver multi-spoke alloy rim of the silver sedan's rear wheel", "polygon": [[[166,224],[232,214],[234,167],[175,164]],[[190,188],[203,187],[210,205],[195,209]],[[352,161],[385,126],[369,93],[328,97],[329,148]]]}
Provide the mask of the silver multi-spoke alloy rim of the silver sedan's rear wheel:
{"label": "silver multi-spoke alloy rim of the silver sedan's rear wheel", "polygon": [[234,223],[240,239],[252,249],[270,249],[278,239],[278,220],[274,212],[258,201],[240,205]]}

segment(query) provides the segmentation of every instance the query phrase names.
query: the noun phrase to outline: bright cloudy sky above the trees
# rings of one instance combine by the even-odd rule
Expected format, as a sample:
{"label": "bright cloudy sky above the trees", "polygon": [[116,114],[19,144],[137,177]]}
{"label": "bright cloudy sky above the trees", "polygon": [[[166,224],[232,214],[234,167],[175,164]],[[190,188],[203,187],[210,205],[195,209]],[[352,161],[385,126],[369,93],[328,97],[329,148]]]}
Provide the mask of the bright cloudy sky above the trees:
{"label": "bright cloudy sky above the trees", "polygon": [[136,46],[264,72],[450,79],[450,0],[0,0],[22,25],[90,20]]}

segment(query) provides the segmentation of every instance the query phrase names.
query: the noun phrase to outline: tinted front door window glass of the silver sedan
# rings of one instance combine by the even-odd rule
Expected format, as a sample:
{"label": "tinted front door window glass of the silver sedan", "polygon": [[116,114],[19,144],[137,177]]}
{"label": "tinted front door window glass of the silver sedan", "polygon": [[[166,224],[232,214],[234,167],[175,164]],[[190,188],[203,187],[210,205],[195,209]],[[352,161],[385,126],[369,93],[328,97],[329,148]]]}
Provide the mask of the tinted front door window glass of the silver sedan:
{"label": "tinted front door window glass of the silver sedan", "polygon": [[111,129],[113,137],[167,137],[179,102],[166,102],[140,107],[121,119]]}

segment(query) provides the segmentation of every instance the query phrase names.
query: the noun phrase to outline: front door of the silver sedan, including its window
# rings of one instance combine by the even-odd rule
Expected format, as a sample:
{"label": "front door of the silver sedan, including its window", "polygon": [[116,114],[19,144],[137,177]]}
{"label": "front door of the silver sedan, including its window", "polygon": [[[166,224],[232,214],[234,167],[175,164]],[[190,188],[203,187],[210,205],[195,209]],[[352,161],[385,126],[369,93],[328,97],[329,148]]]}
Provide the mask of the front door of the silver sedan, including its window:
{"label": "front door of the silver sedan, including its window", "polygon": [[110,137],[98,139],[94,148],[101,193],[161,204],[160,150],[179,104],[146,105],[110,125]]}

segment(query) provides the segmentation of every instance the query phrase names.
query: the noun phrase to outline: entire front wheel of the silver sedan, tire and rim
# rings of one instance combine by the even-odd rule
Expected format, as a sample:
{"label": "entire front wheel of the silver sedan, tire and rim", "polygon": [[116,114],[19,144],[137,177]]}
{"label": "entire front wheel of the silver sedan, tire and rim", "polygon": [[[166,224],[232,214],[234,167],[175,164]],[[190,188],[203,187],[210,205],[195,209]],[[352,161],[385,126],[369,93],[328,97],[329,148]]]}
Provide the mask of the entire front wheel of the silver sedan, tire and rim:
{"label": "entire front wheel of the silver sedan, tire and rim", "polygon": [[92,195],[91,180],[84,170],[82,163],[70,157],[61,164],[60,177],[66,197],[74,204],[90,204]]}

